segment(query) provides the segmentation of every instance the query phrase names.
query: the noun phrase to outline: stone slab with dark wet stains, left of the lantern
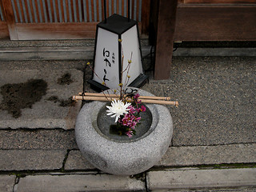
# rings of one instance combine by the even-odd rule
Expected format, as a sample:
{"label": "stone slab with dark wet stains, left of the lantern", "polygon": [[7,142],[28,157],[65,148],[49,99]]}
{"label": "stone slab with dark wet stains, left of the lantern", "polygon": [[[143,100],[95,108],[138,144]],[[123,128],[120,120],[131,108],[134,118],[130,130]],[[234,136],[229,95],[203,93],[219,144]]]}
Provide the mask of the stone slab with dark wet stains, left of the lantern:
{"label": "stone slab with dark wet stains, left of the lantern", "polygon": [[[65,74],[70,74],[70,82],[64,81]],[[63,128],[74,129],[75,118],[80,110],[81,102],[71,103],[71,97],[82,91],[83,74],[79,70],[1,70],[0,71],[0,87],[8,85],[20,86],[27,85],[32,79],[42,79],[46,82],[46,94],[38,95],[38,101],[29,103],[32,100],[30,90],[26,90],[27,86],[21,86],[19,90],[10,88],[4,90],[5,94],[15,94],[19,91],[22,94],[14,98],[13,106],[18,106],[18,102],[27,100],[27,105],[21,108],[7,111],[11,105],[3,94],[0,94],[0,127],[1,128]],[[22,84],[21,84],[22,83]],[[11,90],[13,89],[13,90]],[[37,95],[35,96],[37,97]],[[14,115],[16,113],[18,116]]]}

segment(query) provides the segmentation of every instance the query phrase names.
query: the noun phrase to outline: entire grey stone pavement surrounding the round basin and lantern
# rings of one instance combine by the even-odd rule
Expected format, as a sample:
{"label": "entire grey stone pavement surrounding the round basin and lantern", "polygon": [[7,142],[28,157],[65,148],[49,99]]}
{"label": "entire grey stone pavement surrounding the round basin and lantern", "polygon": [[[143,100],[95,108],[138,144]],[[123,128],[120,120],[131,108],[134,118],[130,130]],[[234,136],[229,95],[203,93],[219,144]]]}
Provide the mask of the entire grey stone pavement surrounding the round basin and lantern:
{"label": "entire grey stone pavement surrounding the round basin and lantern", "polygon": [[0,191],[256,191],[256,57],[174,57],[165,81],[147,72],[142,89],[180,103],[167,106],[174,135],[157,165],[122,177],[75,142],[82,103],[70,97],[92,91],[86,62],[0,58]]}

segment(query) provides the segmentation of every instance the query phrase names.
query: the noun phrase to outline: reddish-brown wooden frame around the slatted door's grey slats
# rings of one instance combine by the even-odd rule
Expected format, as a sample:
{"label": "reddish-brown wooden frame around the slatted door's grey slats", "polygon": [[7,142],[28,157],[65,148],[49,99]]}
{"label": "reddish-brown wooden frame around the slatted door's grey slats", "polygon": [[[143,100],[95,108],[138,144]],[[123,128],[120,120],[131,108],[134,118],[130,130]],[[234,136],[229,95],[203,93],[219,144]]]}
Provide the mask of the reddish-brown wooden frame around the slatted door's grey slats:
{"label": "reddish-brown wooden frame around the slatted door's grey slats", "polygon": [[[2,6],[6,23],[0,27],[8,26],[11,40],[95,38],[98,22],[16,23],[11,1],[2,0]],[[150,0],[142,0],[142,22],[138,23],[142,38],[148,37],[149,18]]]}

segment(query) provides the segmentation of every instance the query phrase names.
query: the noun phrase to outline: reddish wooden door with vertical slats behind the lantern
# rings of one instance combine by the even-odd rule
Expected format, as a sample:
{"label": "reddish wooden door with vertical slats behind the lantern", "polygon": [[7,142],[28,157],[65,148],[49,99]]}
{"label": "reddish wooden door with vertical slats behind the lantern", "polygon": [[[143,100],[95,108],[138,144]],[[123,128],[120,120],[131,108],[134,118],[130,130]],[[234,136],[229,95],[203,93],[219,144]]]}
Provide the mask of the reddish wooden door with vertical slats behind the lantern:
{"label": "reddish wooden door with vertical slats behind the lantern", "polygon": [[[106,0],[107,17],[127,16],[127,0]],[[143,6],[142,6],[143,4]],[[2,0],[11,40],[94,38],[103,0]],[[131,18],[146,35],[150,0],[130,1]]]}

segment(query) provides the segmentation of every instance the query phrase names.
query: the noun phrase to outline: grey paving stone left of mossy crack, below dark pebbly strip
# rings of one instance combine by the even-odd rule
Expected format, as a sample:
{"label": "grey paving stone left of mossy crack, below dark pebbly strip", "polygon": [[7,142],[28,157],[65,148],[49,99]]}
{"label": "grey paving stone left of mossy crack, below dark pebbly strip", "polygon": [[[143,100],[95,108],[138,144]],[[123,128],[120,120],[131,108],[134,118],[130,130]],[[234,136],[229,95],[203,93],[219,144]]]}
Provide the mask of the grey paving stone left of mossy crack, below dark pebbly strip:
{"label": "grey paving stone left of mossy crack, below dark pebbly strip", "polygon": [[62,168],[66,150],[0,150],[0,170]]}

